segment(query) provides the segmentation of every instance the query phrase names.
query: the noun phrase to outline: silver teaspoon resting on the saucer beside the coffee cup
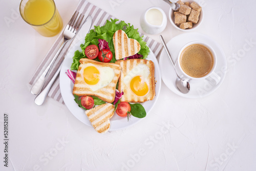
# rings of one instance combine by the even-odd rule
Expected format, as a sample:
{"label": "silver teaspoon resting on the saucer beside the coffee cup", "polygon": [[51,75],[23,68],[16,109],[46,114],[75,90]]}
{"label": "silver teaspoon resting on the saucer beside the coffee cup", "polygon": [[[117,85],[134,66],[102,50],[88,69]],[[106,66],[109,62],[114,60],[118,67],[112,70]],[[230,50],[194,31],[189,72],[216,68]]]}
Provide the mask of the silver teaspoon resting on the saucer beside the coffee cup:
{"label": "silver teaspoon resting on the saucer beside the coffee cup", "polygon": [[175,73],[176,73],[176,75],[177,75],[177,79],[176,79],[176,81],[175,81],[176,87],[177,87],[177,89],[178,89],[181,93],[186,94],[186,93],[188,93],[189,90],[190,90],[189,82],[187,82],[187,81],[185,81],[185,80],[183,80],[183,79],[181,79],[181,78],[179,77],[179,75],[177,74],[177,72],[176,72],[176,70],[175,70],[175,64],[174,64],[174,61],[173,61],[173,59],[172,59],[172,56],[170,56],[170,53],[169,53],[169,51],[168,51],[168,49],[167,49],[167,46],[166,46],[166,44],[165,44],[165,42],[164,42],[164,39],[163,39],[162,35],[160,35],[160,39],[161,39],[162,44],[163,44],[163,47],[164,47],[164,49],[165,49],[165,51],[166,51],[166,53],[167,53],[167,55],[168,55],[168,57],[169,57],[169,59],[170,59],[170,62],[172,62],[173,66],[174,66],[174,71],[175,71]]}

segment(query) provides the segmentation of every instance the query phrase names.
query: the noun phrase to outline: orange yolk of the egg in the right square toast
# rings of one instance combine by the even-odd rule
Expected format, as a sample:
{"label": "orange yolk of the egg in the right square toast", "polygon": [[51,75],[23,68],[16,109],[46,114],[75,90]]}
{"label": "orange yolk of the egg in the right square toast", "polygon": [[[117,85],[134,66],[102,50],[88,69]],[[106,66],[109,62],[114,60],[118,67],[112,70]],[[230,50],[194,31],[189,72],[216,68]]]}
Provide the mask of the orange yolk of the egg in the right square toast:
{"label": "orange yolk of the egg in the right square toast", "polygon": [[141,80],[140,76],[136,76],[131,80],[130,87],[137,96],[144,96],[148,92],[146,82]]}

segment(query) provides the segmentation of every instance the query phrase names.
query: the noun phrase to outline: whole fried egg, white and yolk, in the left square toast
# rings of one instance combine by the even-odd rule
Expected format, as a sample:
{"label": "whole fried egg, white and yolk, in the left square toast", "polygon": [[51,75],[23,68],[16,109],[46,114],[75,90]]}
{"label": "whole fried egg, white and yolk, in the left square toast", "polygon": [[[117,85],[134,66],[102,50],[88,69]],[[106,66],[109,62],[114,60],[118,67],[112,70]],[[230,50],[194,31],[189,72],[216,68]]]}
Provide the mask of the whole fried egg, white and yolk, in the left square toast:
{"label": "whole fried egg, white and yolk, in the left square toast", "polygon": [[80,74],[83,77],[84,83],[92,90],[96,91],[113,80],[115,72],[110,67],[99,67],[91,63],[83,64]]}

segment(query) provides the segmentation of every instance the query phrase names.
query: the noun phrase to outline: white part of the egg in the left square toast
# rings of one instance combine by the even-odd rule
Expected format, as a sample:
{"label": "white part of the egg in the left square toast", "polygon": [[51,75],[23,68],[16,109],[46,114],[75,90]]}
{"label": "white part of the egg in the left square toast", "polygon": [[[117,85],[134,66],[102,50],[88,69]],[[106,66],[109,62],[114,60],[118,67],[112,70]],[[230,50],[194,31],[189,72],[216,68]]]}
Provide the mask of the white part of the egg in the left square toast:
{"label": "white part of the egg in the left square toast", "polygon": [[[83,70],[89,66],[93,66],[95,67],[97,70],[99,70],[99,82],[94,84],[94,85],[90,85],[88,83],[86,83],[86,81],[84,81],[83,78]],[[84,81],[84,84],[86,84],[92,91],[97,91],[103,87],[106,87],[109,85],[109,83],[113,80],[114,76],[115,76],[115,72],[112,68],[110,67],[99,67],[99,66],[95,66],[91,63],[86,63],[83,64],[81,70],[80,70],[80,74],[82,76],[82,79]]]}

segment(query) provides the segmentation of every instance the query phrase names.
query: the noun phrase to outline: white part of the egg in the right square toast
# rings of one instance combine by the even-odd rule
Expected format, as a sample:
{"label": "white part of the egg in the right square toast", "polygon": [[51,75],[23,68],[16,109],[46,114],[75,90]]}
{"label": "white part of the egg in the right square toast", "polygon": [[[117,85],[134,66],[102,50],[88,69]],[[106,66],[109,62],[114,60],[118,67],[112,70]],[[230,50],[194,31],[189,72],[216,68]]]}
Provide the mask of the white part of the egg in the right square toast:
{"label": "white part of the egg in the right square toast", "polygon": [[131,87],[130,87],[131,80],[136,76],[140,76],[142,81],[146,82],[147,85],[149,85],[149,79],[148,79],[149,75],[150,75],[150,68],[148,68],[148,66],[146,66],[145,64],[139,64],[125,75],[125,77],[123,78],[123,83],[126,84],[126,86],[129,87],[131,90]]}

